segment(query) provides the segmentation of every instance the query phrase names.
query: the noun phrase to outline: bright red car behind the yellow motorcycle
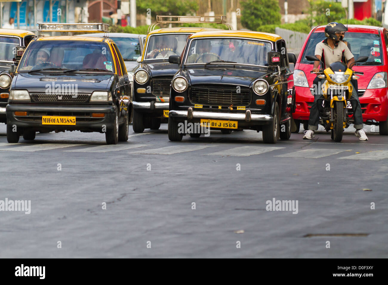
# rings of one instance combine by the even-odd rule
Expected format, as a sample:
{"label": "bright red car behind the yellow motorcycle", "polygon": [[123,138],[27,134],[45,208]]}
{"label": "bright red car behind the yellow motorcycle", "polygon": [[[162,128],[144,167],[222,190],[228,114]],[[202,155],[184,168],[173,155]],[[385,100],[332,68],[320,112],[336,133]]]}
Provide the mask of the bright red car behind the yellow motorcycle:
{"label": "bright red car behind the yellow motorcycle", "polygon": [[[294,121],[299,132],[300,123],[305,130],[308,126],[310,108],[314,101],[312,85],[316,74],[310,74],[314,62],[306,55],[314,55],[315,45],[326,37],[326,26],[318,26],[310,31],[300,51],[294,69],[296,93],[296,111]],[[388,29],[374,26],[349,25],[345,41],[356,60],[359,56],[368,56],[367,62],[353,66],[354,71],[362,71],[358,82],[358,91],[364,124],[379,126],[380,135],[388,135]]]}

